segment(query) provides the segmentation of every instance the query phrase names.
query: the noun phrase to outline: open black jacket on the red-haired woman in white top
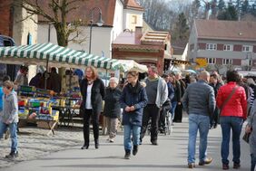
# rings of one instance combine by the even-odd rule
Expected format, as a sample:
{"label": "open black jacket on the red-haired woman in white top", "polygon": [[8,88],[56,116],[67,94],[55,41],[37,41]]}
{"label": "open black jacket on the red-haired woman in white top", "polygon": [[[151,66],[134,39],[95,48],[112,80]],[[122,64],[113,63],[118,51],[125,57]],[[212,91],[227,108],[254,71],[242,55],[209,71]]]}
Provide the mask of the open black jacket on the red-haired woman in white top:
{"label": "open black jacket on the red-haired woman in white top", "polygon": [[[83,96],[83,101],[82,101],[81,107],[80,107],[81,109],[85,109],[85,102],[86,102],[86,97],[87,97],[87,85],[88,85],[87,79],[84,79],[83,81],[81,81],[80,90],[81,90],[81,94]],[[91,95],[93,113],[95,113],[95,114],[101,113],[101,111],[103,109],[104,95],[105,95],[104,83],[101,79],[97,78],[94,81],[94,84],[92,87],[92,95]]]}

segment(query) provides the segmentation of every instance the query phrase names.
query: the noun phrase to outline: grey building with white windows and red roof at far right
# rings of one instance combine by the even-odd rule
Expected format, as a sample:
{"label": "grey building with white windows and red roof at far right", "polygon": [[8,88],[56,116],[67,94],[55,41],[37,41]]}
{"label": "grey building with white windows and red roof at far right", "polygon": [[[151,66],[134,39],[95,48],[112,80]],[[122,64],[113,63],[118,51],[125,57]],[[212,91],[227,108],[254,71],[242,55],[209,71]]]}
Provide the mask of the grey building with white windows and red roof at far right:
{"label": "grey building with white windows and red roof at far right", "polygon": [[195,20],[188,58],[210,71],[253,70],[256,62],[256,23]]}

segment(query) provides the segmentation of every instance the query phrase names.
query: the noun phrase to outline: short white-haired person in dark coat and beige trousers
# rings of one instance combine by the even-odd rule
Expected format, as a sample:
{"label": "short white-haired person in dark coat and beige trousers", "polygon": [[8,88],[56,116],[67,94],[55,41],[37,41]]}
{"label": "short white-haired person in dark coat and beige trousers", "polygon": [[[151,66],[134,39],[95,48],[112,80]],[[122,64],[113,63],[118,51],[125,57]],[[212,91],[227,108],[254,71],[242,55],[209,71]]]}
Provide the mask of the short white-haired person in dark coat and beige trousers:
{"label": "short white-haired person in dark coat and beige trousers", "polygon": [[117,88],[118,79],[117,78],[110,78],[109,80],[109,87],[105,90],[105,97],[104,97],[104,109],[103,109],[103,116],[106,117],[107,123],[107,131],[109,135],[109,142],[113,143],[118,119],[120,118],[121,114],[121,104],[120,98],[122,91]]}

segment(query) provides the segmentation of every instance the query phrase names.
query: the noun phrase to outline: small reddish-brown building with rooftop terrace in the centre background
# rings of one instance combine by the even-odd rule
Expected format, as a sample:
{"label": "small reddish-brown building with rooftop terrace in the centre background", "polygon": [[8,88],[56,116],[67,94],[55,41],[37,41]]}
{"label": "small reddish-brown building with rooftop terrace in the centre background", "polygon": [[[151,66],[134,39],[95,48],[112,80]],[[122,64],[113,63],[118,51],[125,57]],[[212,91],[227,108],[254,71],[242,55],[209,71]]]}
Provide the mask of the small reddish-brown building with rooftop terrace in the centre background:
{"label": "small reddish-brown building with rooftop terrace in the centre background", "polygon": [[164,59],[172,56],[171,35],[168,32],[148,31],[142,27],[135,32],[121,33],[112,44],[114,59],[133,60],[144,65],[154,65],[162,74]]}

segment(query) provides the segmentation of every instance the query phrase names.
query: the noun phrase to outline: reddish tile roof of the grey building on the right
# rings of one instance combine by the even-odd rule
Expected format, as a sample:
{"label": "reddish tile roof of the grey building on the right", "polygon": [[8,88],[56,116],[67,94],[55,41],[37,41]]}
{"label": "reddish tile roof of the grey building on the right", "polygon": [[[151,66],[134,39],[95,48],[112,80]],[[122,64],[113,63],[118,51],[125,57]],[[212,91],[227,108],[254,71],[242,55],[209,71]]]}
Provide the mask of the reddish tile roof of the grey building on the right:
{"label": "reddish tile roof of the grey building on the right", "polygon": [[198,38],[256,41],[256,22],[195,20]]}

